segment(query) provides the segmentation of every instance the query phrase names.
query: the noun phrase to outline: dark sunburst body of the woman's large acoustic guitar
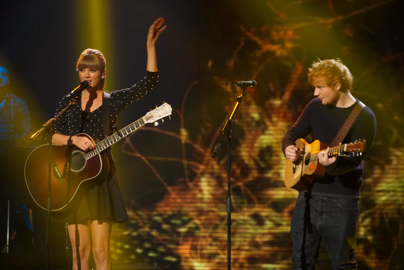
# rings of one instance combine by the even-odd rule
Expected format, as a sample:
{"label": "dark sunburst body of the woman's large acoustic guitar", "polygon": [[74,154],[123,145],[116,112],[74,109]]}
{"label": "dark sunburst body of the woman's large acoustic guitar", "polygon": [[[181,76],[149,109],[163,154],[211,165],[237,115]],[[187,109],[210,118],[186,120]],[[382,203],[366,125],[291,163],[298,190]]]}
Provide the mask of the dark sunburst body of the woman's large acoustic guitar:
{"label": "dark sunburst body of the woman's large acoustic guitar", "polygon": [[[96,141],[87,134],[93,143]],[[85,160],[83,152],[74,145],[51,146],[51,211],[69,211],[75,205],[73,201],[80,201],[85,191],[84,185],[90,179],[102,179],[109,172],[109,161],[105,152]],[[32,199],[43,209],[48,207],[48,157],[49,147],[44,144],[37,147],[29,155],[25,163],[25,183],[27,184]]]}

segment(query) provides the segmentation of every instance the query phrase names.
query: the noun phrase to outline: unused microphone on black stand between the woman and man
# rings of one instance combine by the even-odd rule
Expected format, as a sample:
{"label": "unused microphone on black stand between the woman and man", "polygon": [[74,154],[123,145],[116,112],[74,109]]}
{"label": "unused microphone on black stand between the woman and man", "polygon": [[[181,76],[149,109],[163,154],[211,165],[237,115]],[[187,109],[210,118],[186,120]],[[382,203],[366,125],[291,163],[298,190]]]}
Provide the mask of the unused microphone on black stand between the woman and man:
{"label": "unused microphone on black stand between the woman and man", "polygon": [[[230,192],[230,141],[231,141],[231,128],[234,123],[234,115],[238,109],[238,106],[243,100],[244,94],[246,94],[246,90],[248,87],[255,87],[257,82],[255,80],[250,81],[241,81],[237,82],[235,86],[240,86],[243,88],[243,92],[240,96],[236,98],[237,103],[234,105],[233,112],[231,113],[229,119],[226,120],[225,125],[222,129],[223,136],[227,136],[227,270],[231,269],[231,192]],[[220,143],[216,144],[215,149],[213,150],[212,157],[216,157],[217,152],[219,151]]]}

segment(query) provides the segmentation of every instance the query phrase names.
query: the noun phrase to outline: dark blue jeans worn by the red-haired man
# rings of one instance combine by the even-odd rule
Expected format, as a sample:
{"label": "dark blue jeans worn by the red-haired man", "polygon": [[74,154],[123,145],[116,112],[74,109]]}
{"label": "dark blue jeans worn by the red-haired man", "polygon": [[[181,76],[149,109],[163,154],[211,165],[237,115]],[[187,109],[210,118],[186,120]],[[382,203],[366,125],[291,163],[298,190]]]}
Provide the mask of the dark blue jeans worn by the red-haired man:
{"label": "dark blue jeans worn by the red-haired man", "polygon": [[299,194],[290,226],[292,269],[314,269],[322,242],[332,269],[357,269],[354,251],[358,219],[358,199]]}

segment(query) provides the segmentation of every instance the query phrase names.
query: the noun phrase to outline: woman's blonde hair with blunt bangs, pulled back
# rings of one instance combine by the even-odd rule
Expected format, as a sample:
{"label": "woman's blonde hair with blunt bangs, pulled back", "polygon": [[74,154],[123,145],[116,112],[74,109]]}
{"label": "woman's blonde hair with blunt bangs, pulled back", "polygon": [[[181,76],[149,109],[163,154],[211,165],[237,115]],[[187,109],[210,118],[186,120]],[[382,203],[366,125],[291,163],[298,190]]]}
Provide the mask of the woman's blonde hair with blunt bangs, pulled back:
{"label": "woman's blonde hair with blunt bangs, pulled back", "polygon": [[[105,65],[107,62],[105,61],[104,55],[96,49],[86,49],[78,58],[76,70],[86,69],[86,68],[95,68],[101,72],[104,72]],[[105,76],[101,78],[101,89],[104,89],[105,86]]]}

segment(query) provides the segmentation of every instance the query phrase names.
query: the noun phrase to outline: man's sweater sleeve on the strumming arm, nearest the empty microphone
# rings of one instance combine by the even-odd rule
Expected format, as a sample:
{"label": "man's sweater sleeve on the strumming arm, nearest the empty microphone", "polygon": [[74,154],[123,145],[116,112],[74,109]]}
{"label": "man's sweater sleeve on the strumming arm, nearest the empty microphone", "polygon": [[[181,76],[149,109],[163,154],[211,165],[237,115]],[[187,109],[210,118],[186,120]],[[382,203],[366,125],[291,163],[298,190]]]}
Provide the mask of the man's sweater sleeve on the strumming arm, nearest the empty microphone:
{"label": "man's sweater sleeve on the strumming arm, nearest the empty microphone", "polygon": [[285,135],[282,139],[282,151],[285,155],[285,149],[289,145],[295,145],[295,142],[299,138],[305,138],[307,134],[309,134],[312,130],[310,125],[310,110],[311,107],[314,106],[314,102],[316,99],[311,100],[306,107],[303,109],[303,112],[296,120],[296,122],[291,126],[288,131],[286,131]]}

